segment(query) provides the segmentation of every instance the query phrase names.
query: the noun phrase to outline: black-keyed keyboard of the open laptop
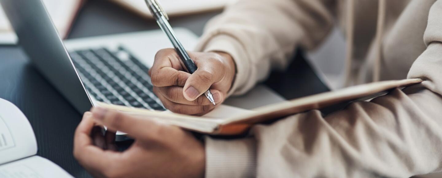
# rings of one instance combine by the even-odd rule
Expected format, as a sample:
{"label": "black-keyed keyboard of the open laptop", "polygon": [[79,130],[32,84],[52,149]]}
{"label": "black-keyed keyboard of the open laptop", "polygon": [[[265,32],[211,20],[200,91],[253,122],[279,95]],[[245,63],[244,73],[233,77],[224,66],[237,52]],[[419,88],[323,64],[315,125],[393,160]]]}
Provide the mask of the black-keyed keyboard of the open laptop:
{"label": "black-keyed keyboard of the open laptop", "polygon": [[72,62],[88,90],[97,101],[164,111],[152,92],[149,68],[123,47],[69,52]]}

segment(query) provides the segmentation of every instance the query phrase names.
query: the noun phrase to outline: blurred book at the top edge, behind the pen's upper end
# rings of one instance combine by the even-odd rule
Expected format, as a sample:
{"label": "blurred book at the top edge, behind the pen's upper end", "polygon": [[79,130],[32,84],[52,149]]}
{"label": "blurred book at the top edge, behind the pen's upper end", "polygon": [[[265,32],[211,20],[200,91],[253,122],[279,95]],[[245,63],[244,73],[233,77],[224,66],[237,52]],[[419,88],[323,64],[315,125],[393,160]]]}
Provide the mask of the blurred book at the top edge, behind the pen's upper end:
{"label": "blurred book at the top edge, behind the pen's upper end", "polygon": [[[144,0],[112,0],[146,18],[152,18]],[[168,16],[194,14],[224,8],[237,0],[158,0]]]}

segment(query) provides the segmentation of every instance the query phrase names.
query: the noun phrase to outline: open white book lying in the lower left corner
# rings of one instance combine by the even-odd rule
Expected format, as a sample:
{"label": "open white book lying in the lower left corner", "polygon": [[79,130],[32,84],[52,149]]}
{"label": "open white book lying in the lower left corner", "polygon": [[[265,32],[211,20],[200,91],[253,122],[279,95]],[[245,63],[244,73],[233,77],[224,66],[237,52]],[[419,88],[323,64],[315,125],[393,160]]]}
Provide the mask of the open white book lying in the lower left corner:
{"label": "open white book lying in the lower left corner", "polygon": [[36,154],[29,121],[16,106],[0,99],[0,178],[73,178]]}

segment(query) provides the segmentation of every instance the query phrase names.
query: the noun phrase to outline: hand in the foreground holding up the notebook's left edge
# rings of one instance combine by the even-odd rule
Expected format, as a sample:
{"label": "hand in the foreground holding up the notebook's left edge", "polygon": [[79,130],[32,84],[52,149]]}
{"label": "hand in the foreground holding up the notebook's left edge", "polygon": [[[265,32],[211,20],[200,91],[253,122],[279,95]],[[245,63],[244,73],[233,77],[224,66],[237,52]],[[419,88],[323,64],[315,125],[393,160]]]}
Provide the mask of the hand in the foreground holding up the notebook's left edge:
{"label": "hand in the foreground holding up the notebook's left edge", "polygon": [[[95,123],[128,133],[135,142],[128,150],[117,152],[113,144],[115,133],[93,133],[101,131]],[[204,177],[204,147],[191,133],[101,108],[84,114],[75,132],[73,153],[94,177]]]}

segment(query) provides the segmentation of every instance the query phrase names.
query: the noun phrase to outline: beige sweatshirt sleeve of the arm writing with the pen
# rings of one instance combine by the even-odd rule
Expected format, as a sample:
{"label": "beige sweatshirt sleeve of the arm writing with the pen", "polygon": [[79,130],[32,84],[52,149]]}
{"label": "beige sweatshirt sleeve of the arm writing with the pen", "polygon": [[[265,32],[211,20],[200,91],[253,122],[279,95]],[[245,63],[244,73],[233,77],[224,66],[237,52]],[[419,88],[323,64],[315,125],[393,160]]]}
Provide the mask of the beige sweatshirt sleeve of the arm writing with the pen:
{"label": "beige sweatshirt sleeve of the arm writing with the pen", "polygon": [[318,45],[334,11],[334,0],[239,0],[206,25],[196,50],[229,53],[237,72],[229,94],[243,94],[271,68],[285,68],[297,46]]}

